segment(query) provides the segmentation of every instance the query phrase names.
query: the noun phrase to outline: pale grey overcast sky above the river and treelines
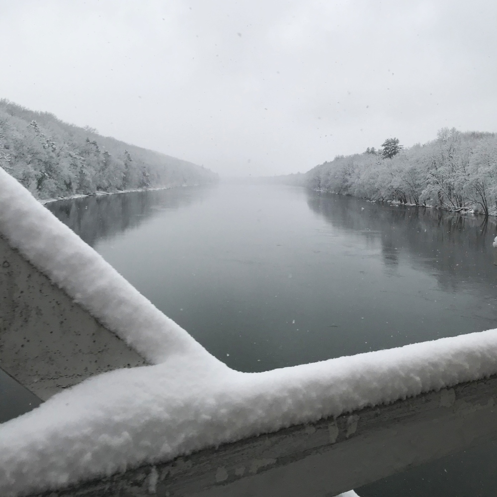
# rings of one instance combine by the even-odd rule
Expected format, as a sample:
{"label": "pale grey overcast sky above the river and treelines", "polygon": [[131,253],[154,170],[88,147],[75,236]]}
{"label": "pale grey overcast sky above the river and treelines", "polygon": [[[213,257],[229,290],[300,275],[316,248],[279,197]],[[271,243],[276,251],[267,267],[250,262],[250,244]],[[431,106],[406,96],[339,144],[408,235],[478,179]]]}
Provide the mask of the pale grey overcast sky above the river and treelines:
{"label": "pale grey overcast sky above the river and treelines", "polygon": [[497,131],[497,2],[0,0],[0,97],[221,175]]}

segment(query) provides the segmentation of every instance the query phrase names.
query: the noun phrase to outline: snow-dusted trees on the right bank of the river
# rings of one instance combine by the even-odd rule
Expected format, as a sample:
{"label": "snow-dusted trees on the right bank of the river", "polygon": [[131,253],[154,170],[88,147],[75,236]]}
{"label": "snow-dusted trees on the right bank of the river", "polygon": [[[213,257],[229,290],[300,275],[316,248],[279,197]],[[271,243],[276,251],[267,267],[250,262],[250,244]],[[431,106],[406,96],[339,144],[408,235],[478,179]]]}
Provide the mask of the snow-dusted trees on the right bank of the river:
{"label": "snow-dusted trees on the right bank of the river", "polygon": [[497,213],[497,135],[443,128],[436,140],[388,154],[338,156],[306,173],[311,188],[371,200]]}

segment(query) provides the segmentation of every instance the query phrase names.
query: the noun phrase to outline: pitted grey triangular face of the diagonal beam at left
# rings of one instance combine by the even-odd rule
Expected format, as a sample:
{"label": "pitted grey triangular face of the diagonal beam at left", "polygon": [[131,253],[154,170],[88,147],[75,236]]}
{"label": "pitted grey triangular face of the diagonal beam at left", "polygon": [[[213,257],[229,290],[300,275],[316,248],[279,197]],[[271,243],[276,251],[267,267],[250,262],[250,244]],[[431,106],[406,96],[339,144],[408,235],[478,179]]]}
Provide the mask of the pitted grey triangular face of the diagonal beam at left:
{"label": "pitted grey triangular face of the diagonal beam at left", "polygon": [[146,361],[0,237],[0,367],[42,400]]}

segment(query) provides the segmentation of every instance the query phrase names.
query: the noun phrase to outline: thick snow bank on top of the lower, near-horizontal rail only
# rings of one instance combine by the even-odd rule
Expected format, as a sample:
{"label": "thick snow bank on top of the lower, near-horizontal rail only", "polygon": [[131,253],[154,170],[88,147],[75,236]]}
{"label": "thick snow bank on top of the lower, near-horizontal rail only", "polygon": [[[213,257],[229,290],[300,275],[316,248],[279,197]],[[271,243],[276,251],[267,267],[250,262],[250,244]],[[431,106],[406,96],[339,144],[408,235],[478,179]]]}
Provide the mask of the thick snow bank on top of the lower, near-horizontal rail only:
{"label": "thick snow bank on top of the lower, near-horizontal rail only", "polygon": [[90,378],[0,425],[0,495],[78,480],[496,373],[484,331],[264,373],[195,360]]}

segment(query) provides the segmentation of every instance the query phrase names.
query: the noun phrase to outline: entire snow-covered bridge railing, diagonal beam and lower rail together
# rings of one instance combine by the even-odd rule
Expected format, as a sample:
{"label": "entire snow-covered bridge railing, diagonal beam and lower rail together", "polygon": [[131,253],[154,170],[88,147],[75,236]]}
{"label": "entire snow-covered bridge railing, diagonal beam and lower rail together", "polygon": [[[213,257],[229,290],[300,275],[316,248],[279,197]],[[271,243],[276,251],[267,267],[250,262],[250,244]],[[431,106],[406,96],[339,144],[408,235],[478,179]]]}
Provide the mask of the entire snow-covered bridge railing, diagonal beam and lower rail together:
{"label": "entire snow-covered bridge railing, diagonal beam and lower rail together", "polygon": [[496,435],[496,331],[240,373],[1,169],[0,236],[2,367],[48,399],[1,496],[331,497]]}

